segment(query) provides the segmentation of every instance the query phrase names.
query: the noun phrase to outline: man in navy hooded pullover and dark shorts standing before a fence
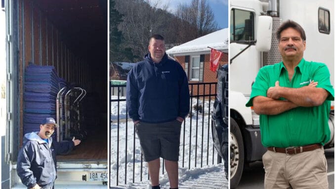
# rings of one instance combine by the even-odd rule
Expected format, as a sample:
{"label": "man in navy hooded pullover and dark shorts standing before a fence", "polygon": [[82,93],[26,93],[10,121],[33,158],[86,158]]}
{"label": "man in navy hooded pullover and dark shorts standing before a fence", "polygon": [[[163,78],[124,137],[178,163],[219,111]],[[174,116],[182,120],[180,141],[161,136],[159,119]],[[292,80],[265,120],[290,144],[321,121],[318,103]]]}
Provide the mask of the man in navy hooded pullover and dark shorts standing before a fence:
{"label": "man in navy hooded pullover and dark shorts standing before a fence", "polygon": [[127,76],[128,114],[148,162],[152,189],[160,189],[160,157],[170,188],[177,189],[181,124],[190,108],[188,79],[182,66],[168,58],[161,35],[150,38],[148,50]]}

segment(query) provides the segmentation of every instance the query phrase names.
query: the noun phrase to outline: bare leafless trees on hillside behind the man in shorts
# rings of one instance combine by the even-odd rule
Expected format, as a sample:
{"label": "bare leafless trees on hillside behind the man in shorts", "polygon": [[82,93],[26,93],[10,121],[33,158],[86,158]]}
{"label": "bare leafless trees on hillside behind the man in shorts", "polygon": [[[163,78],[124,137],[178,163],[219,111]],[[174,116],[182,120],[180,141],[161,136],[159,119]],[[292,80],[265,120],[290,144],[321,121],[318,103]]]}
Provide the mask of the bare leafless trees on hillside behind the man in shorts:
{"label": "bare leafless trees on hillside behind the man in shorts", "polygon": [[208,23],[213,22],[213,13],[203,0],[201,3],[193,0],[190,6],[180,4],[176,14],[169,13],[168,4],[163,4],[162,0],[115,2],[115,8],[123,15],[123,21],[118,26],[118,30],[123,33],[120,47],[133,52],[135,61],[142,60],[143,55],[148,53],[148,40],[153,34],[163,35],[166,44],[178,45],[216,31]]}

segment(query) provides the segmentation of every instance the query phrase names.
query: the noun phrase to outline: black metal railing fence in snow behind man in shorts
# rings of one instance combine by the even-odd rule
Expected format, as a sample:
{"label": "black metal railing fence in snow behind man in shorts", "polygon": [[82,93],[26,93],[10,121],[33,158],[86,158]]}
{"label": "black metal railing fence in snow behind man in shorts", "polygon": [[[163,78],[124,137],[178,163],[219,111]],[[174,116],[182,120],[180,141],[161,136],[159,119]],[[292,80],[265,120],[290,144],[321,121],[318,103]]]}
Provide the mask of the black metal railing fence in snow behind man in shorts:
{"label": "black metal railing fence in snow behind man in shorts", "polygon": [[[190,112],[182,123],[179,167],[191,169],[221,160],[210,134],[216,87],[216,83],[189,84]],[[110,85],[110,187],[149,179],[133,122],[127,114],[126,97],[122,95],[125,89],[126,85]],[[162,174],[164,170],[162,161]]]}

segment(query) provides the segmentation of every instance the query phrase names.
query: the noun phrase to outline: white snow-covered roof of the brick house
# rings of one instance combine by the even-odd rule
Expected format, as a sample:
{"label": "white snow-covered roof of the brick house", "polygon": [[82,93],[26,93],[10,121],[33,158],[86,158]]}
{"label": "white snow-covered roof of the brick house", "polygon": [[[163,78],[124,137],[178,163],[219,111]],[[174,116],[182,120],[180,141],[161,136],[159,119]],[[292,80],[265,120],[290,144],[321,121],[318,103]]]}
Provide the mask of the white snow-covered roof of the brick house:
{"label": "white snow-covered roof of the brick house", "polygon": [[228,29],[224,28],[166,51],[169,56],[210,53],[210,48],[228,52]]}

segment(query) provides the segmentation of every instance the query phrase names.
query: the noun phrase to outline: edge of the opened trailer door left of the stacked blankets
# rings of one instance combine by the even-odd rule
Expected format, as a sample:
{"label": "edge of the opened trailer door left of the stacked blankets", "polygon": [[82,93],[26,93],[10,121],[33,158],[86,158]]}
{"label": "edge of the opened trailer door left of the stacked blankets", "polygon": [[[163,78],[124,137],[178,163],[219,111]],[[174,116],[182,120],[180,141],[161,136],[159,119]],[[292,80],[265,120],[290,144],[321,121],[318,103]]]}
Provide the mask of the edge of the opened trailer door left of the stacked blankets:
{"label": "edge of the opened trailer door left of the stacked blankets", "polygon": [[5,6],[5,41],[6,41],[6,132],[4,160],[7,164],[16,161],[19,148],[19,32],[18,1],[4,0]]}

